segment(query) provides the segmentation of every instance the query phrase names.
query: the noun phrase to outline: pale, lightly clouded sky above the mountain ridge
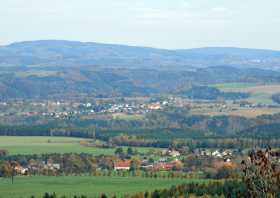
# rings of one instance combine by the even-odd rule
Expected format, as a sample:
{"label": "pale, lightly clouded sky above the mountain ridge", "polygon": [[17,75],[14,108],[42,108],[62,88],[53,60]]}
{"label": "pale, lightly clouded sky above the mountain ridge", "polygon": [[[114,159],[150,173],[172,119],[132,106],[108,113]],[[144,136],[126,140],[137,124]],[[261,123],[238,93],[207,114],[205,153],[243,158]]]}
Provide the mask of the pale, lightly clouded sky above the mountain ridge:
{"label": "pale, lightly clouded sky above the mountain ridge", "polygon": [[279,0],[0,0],[0,45],[75,40],[280,50]]}

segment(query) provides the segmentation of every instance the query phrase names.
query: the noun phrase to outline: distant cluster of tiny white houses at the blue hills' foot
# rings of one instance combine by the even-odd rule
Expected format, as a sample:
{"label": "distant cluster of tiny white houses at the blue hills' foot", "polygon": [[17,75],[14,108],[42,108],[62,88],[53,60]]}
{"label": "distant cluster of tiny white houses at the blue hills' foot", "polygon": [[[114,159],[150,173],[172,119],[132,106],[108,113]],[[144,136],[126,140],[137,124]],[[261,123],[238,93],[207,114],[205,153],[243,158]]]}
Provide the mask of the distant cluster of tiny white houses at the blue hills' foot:
{"label": "distant cluster of tiny white houses at the blue hills' foot", "polygon": [[[42,102],[30,102],[28,104],[23,101],[17,101],[16,103],[3,103],[7,105],[25,106],[31,105],[38,108],[38,111],[23,111],[18,112],[23,116],[45,116],[53,118],[69,118],[78,115],[92,115],[96,113],[130,113],[130,114],[142,114],[151,110],[159,110],[163,106],[168,105],[169,101],[161,102],[124,102],[124,103],[111,103],[111,104],[93,104],[90,102],[67,102],[67,101],[42,101]],[[0,105],[1,106],[1,105]],[[2,105],[3,106],[3,105]],[[51,111],[50,111],[51,109]],[[64,110],[62,110],[64,109]],[[3,113],[5,115],[5,112]]]}

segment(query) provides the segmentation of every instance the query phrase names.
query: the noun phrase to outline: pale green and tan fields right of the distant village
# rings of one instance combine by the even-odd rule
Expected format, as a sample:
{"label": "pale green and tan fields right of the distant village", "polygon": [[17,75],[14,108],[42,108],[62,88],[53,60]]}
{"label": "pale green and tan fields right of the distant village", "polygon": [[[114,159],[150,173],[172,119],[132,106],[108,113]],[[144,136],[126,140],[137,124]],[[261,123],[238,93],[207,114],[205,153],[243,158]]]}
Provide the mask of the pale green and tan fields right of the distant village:
{"label": "pale green and tan fields right of the distant village", "polygon": [[[280,84],[260,84],[260,83],[223,83],[214,84],[216,87],[224,92],[243,92],[249,93],[250,97],[242,99],[252,104],[266,104],[266,105],[277,105],[274,107],[251,107],[243,108],[239,104],[235,105],[231,101],[227,103],[221,103],[217,105],[204,104],[198,108],[192,110],[193,114],[203,114],[210,116],[218,115],[232,115],[232,116],[245,116],[245,117],[256,117],[260,115],[271,115],[280,113],[280,106],[272,101],[272,95],[280,93]],[[225,106],[225,107],[224,107]]]}

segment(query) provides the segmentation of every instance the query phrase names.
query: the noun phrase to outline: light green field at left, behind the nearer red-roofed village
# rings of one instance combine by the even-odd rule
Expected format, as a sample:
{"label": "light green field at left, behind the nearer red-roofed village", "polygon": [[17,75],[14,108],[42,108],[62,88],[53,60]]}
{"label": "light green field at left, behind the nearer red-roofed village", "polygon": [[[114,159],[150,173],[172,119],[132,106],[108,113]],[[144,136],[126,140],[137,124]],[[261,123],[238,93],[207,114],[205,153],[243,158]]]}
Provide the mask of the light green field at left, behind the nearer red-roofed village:
{"label": "light green field at left, behind the nearer red-roofed village", "polygon": [[[69,137],[30,137],[0,136],[0,149],[8,150],[9,154],[43,154],[43,153],[90,153],[93,155],[113,155],[114,148],[96,148],[83,145],[90,141],[82,138]],[[136,148],[141,153],[151,148]]]}

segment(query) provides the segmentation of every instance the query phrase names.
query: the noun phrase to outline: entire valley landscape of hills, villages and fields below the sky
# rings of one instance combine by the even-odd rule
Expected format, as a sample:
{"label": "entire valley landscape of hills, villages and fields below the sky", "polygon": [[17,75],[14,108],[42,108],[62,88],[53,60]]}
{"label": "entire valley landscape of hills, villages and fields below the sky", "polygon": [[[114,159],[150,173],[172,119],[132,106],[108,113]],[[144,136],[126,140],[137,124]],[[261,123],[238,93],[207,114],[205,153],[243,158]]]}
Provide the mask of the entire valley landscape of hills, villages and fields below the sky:
{"label": "entire valley landscape of hills, villages and fields below the sky", "polygon": [[279,163],[277,52],[66,41],[1,51],[15,58],[0,61],[0,197],[238,197],[248,155]]}

